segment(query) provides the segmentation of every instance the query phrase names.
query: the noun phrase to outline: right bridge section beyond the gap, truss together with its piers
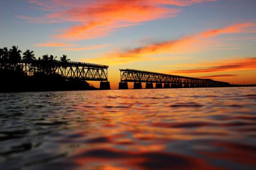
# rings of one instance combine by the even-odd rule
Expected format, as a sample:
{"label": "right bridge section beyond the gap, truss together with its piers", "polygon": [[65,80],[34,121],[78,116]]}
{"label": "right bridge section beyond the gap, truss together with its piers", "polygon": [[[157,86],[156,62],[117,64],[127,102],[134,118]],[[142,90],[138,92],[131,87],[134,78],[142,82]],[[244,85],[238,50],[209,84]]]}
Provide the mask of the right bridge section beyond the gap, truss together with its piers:
{"label": "right bridge section beyond the gap, truss together with its piers", "polygon": [[121,82],[119,82],[119,89],[128,89],[127,82],[134,82],[133,89],[142,89],[142,82],[146,83],[146,89],[153,89],[153,83],[156,83],[155,88],[195,88],[230,86],[228,82],[214,81],[211,79],[190,78],[180,75],[155,73],[149,71],[120,69],[120,72]]}

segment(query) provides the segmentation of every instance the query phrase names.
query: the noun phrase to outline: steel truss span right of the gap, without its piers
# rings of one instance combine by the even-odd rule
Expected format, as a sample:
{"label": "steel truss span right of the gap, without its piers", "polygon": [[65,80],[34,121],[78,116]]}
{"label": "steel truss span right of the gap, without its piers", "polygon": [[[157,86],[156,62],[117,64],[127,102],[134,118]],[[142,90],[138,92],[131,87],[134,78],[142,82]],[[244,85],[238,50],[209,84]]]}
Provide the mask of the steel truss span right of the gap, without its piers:
{"label": "steel truss span right of the gap, without its piers", "polygon": [[155,73],[133,69],[120,69],[121,82],[146,82],[146,83],[172,83],[172,84],[194,84],[196,86],[229,86],[227,82],[214,81],[211,79],[198,79],[183,77],[179,75]]}

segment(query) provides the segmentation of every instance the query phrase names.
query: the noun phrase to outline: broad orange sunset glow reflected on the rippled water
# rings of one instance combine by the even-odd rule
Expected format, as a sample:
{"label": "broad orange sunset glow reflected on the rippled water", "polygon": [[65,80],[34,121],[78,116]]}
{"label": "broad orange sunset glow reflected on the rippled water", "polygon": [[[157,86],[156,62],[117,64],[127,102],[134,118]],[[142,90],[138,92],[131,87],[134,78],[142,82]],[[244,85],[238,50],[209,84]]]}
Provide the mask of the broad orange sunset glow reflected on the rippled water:
{"label": "broad orange sunset glow reflected on the rippled water", "polygon": [[[211,160],[253,164],[252,152],[225,144],[227,139],[238,140],[238,130],[256,120],[244,114],[251,110],[244,107],[248,101],[237,100],[241,91],[227,96],[225,90],[119,90],[103,92],[107,99],[102,103],[100,95],[95,96],[97,104],[78,103],[73,108],[94,137],[71,158],[85,167],[107,169],[225,169]],[[234,127],[238,129],[231,130]],[[251,158],[244,161],[239,154]]]}

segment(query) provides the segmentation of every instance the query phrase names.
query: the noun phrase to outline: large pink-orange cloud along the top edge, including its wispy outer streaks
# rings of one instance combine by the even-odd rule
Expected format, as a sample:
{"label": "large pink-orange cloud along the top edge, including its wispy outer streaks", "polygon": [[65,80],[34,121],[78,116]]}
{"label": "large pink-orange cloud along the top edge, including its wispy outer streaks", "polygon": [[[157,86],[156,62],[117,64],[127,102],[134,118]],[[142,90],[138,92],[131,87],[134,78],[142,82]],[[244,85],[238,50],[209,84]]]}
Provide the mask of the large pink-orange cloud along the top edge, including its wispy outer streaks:
{"label": "large pink-orange cloud along the top edge, including its wispy outer streaks", "polygon": [[53,37],[69,40],[92,39],[108,36],[117,28],[176,16],[180,11],[177,8],[164,5],[189,6],[213,1],[216,0],[95,0],[91,2],[30,0],[31,4],[42,10],[57,12],[48,13],[41,18],[27,16],[19,16],[19,18],[41,23],[78,22]]}

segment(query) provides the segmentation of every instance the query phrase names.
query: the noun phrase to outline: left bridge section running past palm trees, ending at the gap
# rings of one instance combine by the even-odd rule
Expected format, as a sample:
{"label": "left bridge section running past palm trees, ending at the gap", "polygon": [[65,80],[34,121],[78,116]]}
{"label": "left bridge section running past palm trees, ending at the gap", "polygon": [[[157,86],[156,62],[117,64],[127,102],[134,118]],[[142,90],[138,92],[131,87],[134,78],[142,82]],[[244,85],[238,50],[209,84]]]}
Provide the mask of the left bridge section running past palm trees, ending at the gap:
{"label": "left bridge section running past palm trees, ending at the gap", "polygon": [[[5,63],[1,67],[11,67],[12,65],[12,63]],[[20,60],[15,65],[19,66],[28,76],[32,76],[38,72],[45,74],[57,73],[66,80],[100,81],[100,89],[110,89],[108,65],[44,60]]]}

